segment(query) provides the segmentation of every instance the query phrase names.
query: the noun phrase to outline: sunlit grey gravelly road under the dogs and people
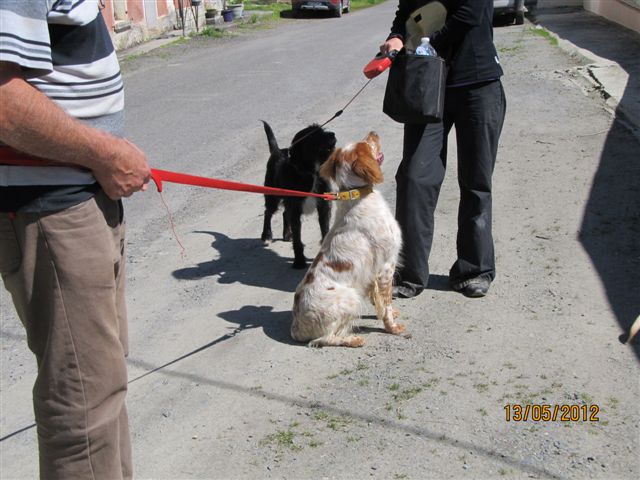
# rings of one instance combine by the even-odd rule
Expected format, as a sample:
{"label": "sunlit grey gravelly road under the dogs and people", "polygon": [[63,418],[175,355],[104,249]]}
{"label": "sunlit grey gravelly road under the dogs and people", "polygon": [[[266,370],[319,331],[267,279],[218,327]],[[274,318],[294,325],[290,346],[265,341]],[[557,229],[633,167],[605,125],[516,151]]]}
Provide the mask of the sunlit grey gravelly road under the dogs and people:
{"label": "sunlit grey gravelly road under the dogs and people", "polygon": [[[386,2],[128,59],[128,136],[154,167],[261,183],[268,147],[259,119],[282,146],[329,119],[365,84],[362,67],[394,10]],[[292,342],[303,272],[291,269],[290,244],[261,244],[259,195],[166,184],[178,239],[153,189],[126,201],[137,478],[640,475],[637,350],[618,341],[638,307],[624,292],[637,289],[640,247],[629,232],[640,174],[624,160],[639,145],[575,81],[579,58],[529,23],[495,35],[508,98],[494,186],[498,277],[481,300],[446,288],[452,152],[433,284],[396,302],[406,336],[382,333],[371,311],[360,324],[362,349]],[[385,80],[372,81],[330,126],[339,144],[378,131],[380,190],[393,204],[402,127],[381,112]],[[313,255],[315,218],[303,239]],[[605,278],[604,264],[624,274]],[[623,294],[612,301],[611,289]],[[6,292],[0,300],[0,477],[34,478],[35,362]],[[507,405],[524,404],[598,409],[599,421],[506,420]]]}

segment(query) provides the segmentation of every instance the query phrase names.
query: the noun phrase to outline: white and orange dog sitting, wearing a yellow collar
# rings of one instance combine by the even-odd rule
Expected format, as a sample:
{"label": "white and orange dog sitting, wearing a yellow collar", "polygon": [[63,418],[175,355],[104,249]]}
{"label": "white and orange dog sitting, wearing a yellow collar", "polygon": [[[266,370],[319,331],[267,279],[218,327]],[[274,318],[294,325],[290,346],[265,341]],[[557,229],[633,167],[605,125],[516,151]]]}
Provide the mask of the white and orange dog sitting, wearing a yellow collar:
{"label": "white and orange dog sitting, wearing a yellow collar", "polygon": [[393,273],[402,244],[400,228],[384,198],[373,190],[382,183],[380,138],[374,132],[336,149],[320,175],[336,186],[335,221],[320,252],[302,279],[293,301],[291,336],[309,346],[361,347],[353,334],[363,302],[375,305],[387,332],[405,329],[395,323],[391,306]]}

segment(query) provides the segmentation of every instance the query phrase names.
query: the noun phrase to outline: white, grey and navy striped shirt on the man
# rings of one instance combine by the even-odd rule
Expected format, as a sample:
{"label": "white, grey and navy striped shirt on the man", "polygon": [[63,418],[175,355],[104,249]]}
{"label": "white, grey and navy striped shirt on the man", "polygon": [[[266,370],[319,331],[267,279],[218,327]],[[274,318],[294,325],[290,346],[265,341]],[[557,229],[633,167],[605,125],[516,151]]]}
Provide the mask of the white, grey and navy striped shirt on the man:
{"label": "white, grey and navy striped shirt on the man", "polygon": [[[69,115],[122,135],[122,77],[98,0],[0,0],[0,61]],[[61,210],[98,189],[82,169],[0,165],[0,211]]]}

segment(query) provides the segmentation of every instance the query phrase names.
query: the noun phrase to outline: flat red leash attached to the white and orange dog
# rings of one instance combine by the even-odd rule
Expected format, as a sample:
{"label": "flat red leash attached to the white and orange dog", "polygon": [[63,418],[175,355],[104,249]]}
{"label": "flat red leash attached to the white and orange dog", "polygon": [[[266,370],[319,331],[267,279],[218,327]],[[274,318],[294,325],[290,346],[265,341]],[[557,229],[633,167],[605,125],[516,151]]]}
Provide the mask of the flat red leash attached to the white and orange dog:
{"label": "flat red leash attached to the white and orange dog", "polygon": [[[56,163],[44,158],[33,157],[17,152],[11,148],[0,147],[0,165],[20,165],[20,166],[51,166],[51,167],[74,167],[74,165]],[[77,166],[75,166],[78,168]],[[264,187],[262,185],[251,185],[248,183],[230,182],[228,180],[218,180],[216,178],[198,177],[186,173],[170,172],[168,170],[151,169],[151,178],[162,192],[162,182],[179,183],[182,185],[194,185],[197,187],[218,188],[222,190],[234,190],[238,192],[262,193],[264,195],[281,195],[285,197],[317,197],[324,200],[335,200],[335,194],[299,192],[297,190],[287,190],[284,188]]]}

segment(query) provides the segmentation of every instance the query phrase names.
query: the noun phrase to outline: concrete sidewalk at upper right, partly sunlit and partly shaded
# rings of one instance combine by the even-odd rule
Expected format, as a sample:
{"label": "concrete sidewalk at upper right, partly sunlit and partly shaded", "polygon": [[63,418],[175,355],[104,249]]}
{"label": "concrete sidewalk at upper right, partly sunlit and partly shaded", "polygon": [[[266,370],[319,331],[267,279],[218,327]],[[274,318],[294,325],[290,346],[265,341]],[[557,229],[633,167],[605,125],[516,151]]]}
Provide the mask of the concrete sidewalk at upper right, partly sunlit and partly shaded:
{"label": "concrete sidewalk at upper right, partly sunlit and partly shaded", "polygon": [[640,34],[582,9],[540,10],[534,20],[584,60],[576,73],[640,139]]}

